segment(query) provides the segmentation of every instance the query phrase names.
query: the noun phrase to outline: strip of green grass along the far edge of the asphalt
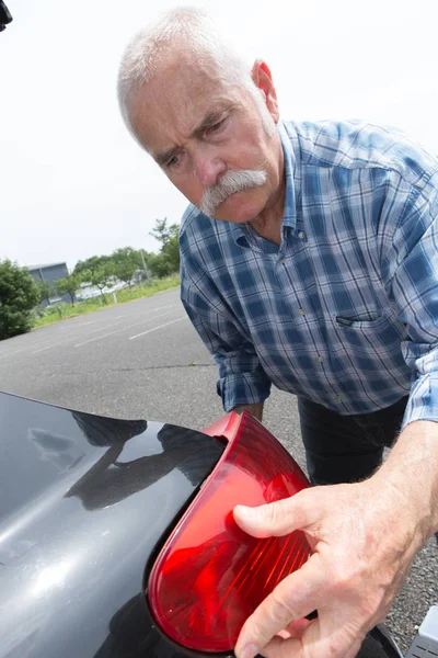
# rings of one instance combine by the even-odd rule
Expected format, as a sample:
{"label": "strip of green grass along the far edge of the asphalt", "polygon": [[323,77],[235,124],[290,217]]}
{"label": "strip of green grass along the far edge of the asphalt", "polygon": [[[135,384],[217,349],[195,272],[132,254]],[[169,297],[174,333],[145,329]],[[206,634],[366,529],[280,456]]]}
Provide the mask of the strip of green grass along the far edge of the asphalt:
{"label": "strip of green grass along the far edge of the asphalt", "polygon": [[[150,297],[155,293],[161,293],[162,291],[168,291],[178,285],[178,274],[174,274],[173,276],[168,276],[165,279],[154,279],[152,281],[147,281],[145,283],[140,283],[139,285],[132,286],[131,288],[126,287],[117,291],[117,304],[132,302],[134,299],[140,299],[142,297]],[[36,316],[33,328],[36,329],[38,327],[45,327],[46,325],[59,322],[59,320],[74,318],[77,316],[94,313],[95,310],[102,310],[103,308],[110,308],[111,306],[115,306],[112,293],[104,295],[104,297],[105,299],[103,299],[102,296],[99,296],[93,297],[92,299],[77,302],[74,306],[71,306],[71,304],[64,303],[54,304],[53,306],[47,306],[46,308],[42,309],[41,313],[43,315],[41,316],[38,309],[38,315]]]}

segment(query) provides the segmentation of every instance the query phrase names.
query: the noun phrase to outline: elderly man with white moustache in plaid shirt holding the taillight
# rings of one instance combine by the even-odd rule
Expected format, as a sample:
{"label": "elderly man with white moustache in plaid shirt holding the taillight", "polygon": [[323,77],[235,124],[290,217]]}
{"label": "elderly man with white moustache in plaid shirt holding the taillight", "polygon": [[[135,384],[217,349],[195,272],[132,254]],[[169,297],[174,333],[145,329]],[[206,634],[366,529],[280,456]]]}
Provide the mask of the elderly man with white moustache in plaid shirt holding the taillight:
{"label": "elderly man with white moustache in plaid shirt holding the taillight", "polygon": [[368,124],[280,121],[266,64],[195,10],[132,39],[118,93],[191,202],[182,299],[226,410],[262,419],[272,383],[297,394],[311,479],[332,485],[235,508],[246,532],[302,529],[313,548],[235,654],[353,657],[438,529],[437,162]]}

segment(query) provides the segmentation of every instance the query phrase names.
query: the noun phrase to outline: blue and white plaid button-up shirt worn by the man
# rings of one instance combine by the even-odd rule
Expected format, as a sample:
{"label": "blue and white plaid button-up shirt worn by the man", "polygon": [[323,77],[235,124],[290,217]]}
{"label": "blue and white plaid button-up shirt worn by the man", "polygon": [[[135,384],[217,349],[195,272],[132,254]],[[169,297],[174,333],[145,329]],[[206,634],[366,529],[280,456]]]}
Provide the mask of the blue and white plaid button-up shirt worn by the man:
{"label": "blue and white plaid button-up shirt worn by the man", "polygon": [[438,162],[393,129],[286,123],[278,247],[189,206],[183,304],[226,410],[270,384],[343,415],[438,421]]}

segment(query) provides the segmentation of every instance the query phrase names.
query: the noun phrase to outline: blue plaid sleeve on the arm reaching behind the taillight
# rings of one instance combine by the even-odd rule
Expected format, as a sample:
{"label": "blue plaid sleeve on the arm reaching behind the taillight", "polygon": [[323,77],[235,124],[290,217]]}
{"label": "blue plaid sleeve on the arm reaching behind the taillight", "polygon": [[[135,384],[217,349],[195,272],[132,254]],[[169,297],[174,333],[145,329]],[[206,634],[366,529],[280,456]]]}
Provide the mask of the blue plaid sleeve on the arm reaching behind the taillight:
{"label": "blue plaid sleeve on the arm reaching behind the taillight", "polygon": [[197,272],[194,281],[183,263],[181,279],[183,305],[219,366],[217,392],[223,409],[263,402],[269,396],[270,382],[239,320],[206,274]]}

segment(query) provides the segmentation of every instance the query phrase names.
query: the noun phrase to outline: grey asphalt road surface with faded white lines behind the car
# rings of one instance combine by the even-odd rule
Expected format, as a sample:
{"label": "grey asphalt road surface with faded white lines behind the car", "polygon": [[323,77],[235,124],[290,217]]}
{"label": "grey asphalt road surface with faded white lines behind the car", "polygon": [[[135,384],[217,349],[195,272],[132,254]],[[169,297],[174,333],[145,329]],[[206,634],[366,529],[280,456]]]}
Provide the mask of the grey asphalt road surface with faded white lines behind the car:
{"label": "grey asphalt road surface with faded white lines behind the car", "polygon": [[[0,390],[198,430],[222,415],[216,366],[185,316],[178,290],[0,342]],[[295,398],[275,390],[264,422],[306,469]],[[437,567],[430,540],[387,621],[404,651],[429,605],[438,603]]]}

